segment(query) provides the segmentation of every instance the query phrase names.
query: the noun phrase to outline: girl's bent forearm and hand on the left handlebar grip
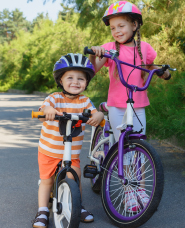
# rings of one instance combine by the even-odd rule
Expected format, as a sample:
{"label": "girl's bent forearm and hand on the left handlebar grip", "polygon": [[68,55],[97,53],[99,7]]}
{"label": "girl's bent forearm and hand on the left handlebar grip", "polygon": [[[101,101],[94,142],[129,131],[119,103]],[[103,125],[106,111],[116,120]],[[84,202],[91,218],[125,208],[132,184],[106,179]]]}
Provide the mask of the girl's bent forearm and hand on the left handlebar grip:
{"label": "girl's bent forearm and hand on the left handlebar grip", "polygon": [[[100,58],[101,55],[105,54],[105,49],[100,46],[92,46],[91,49],[95,52],[95,55],[89,55],[89,60],[94,65],[95,73],[98,72],[102,66],[106,63],[107,58]],[[99,58],[96,58],[99,56]]]}

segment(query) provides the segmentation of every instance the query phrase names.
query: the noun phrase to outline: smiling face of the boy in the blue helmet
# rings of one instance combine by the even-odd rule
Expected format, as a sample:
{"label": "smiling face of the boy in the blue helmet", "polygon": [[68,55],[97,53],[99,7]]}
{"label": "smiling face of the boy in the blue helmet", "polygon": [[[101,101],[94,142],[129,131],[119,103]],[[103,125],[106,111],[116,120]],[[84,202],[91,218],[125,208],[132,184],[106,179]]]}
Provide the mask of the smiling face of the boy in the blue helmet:
{"label": "smiling face of the boy in the blue helmet", "polygon": [[87,86],[86,74],[77,70],[67,71],[60,79],[60,83],[68,93],[82,93]]}

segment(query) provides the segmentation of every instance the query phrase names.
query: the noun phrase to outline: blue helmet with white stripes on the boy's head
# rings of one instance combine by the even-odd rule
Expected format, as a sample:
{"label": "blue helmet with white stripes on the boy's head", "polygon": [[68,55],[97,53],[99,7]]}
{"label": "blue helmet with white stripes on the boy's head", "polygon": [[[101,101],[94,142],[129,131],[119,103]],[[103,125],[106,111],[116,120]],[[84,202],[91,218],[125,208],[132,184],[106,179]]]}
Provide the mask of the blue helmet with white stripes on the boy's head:
{"label": "blue helmet with white stripes on the boy's head", "polygon": [[[66,71],[70,71],[70,70],[79,70],[79,71],[85,72],[87,76],[87,86],[90,80],[95,75],[94,66],[86,56],[83,56],[82,54],[79,54],[79,53],[77,54],[69,53],[67,55],[62,56],[54,65],[53,76],[58,87],[63,89],[63,91],[67,94],[69,93],[65,91],[63,86],[60,84],[60,79]],[[77,94],[70,94],[70,95],[77,95]]]}

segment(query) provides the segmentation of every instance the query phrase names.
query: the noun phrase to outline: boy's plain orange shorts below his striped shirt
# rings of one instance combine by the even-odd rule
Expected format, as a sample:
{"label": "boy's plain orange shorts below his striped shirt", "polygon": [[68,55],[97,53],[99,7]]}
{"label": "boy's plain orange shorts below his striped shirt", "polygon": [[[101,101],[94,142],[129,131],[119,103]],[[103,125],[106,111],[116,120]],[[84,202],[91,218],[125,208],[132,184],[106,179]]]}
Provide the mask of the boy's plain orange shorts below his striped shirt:
{"label": "boy's plain orange shorts below his striped shirt", "polygon": [[[57,164],[61,161],[61,158],[52,158],[41,152],[38,152],[38,163],[40,179],[49,179],[55,174]],[[80,168],[80,159],[72,159],[72,166]]]}

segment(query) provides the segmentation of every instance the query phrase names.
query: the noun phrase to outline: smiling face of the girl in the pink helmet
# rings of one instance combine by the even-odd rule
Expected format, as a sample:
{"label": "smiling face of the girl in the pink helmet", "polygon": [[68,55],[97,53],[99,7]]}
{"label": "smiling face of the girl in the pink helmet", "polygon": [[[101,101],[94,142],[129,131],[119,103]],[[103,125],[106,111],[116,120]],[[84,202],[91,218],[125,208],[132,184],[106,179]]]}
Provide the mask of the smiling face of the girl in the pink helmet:
{"label": "smiling face of the girl in the pink helmet", "polygon": [[[121,44],[131,38],[137,28],[137,23],[131,22],[126,16],[112,17],[109,19],[109,23],[113,38]],[[132,45],[133,42],[127,43],[127,45]]]}

